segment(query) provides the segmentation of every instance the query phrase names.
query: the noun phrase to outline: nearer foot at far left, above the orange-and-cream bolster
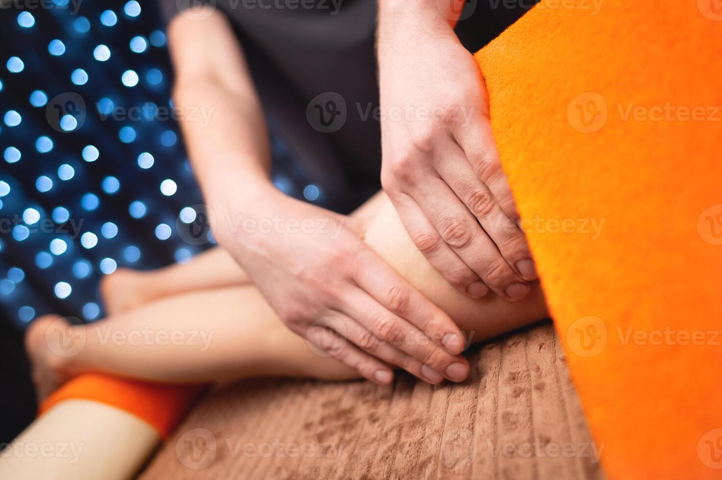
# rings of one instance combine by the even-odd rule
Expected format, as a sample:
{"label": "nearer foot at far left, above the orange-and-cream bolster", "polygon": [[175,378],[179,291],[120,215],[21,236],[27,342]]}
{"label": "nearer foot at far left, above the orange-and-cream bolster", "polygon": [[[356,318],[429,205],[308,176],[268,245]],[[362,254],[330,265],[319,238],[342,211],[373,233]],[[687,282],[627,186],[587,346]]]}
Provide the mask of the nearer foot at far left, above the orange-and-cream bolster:
{"label": "nearer foot at far left, above the orange-and-cream bolster", "polygon": [[38,405],[74,375],[73,357],[79,353],[77,347],[84,346],[84,341],[80,345],[77,340],[78,332],[59,315],[44,315],[27,328],[25,351],[30,357]]}

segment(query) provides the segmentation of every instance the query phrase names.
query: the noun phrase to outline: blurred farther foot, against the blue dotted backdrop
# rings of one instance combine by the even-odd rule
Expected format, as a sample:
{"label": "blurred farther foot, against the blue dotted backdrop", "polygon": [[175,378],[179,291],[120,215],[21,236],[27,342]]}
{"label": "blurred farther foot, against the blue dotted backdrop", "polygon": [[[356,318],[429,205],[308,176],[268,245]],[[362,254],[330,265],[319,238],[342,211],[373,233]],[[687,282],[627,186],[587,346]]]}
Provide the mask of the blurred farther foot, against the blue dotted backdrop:
{"label": "blurred farther foot, against the blue dotted backdrop", "polygon": [[108,315],[133,310],[155,298],[154,290],[143,279],[142,271],[118,269],[100,280],[100,297]]}

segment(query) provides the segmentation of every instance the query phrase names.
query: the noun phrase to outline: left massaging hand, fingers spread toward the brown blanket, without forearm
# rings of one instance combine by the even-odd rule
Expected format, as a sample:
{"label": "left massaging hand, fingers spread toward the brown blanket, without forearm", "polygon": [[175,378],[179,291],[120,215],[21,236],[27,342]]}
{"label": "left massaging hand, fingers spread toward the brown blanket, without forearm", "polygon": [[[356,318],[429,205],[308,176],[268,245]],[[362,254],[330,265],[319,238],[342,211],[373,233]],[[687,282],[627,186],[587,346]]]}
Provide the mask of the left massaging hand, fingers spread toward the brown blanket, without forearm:
{"label": "left massaging hand, fingers spread toward the brown blanket, without forearm", "polygon": [[384,362],[430,383],[466,378],[461,331],[361,240],[353,219],[270,185],[243,195],[256,201],[216,208],[214,233],[292,331],[376,383],[393,379]]}

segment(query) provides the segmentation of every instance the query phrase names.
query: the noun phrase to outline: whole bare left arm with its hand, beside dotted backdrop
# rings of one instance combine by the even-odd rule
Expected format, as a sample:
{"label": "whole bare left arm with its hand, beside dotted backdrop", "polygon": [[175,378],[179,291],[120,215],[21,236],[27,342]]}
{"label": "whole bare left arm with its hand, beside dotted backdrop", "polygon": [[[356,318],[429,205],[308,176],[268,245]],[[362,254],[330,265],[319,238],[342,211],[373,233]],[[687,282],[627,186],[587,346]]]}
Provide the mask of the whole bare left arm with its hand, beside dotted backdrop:
{"label": "whole bare left arm with its hand, beside dotted backdrop", "polygon": [[[360,225],[284,196],[271,184],[263,113],[243,51],[225,17],[220,12],[210,17],[184,12],[170,23],[168,40],[175,67],[175,104],[181,110],[212,112],[207,125],[186,119],[181,128],[212,212],[215,238],[282,322],[305,336],[314,323],[338,318],[347,331],[359,332],[357,338],[348,339],[347,353],[339,359],[376,381],[391,378],[388,364],[409,367],[420,375],[421,362],[425,370],[435,371],[434,378],[464,380],[468,369],[458,356],[464,344],[461,331],[361,241]],[[333,222],[340,228],[295,234],[238,228],[242,219],[261,224],[278,217]],[[378,341],[389,340],[391,333],[433,341],[373,348]],[[375,340],[368,341],[368,336]],[[449,370],[454,363],[462,367]]]}

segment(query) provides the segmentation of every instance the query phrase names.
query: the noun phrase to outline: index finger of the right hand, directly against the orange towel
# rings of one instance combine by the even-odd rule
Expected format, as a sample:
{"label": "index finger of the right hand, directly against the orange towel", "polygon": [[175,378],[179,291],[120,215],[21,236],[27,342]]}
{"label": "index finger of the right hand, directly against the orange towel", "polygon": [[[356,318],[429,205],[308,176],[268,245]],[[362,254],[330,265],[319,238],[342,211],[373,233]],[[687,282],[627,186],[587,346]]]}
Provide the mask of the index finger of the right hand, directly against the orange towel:
{"label": "index finger of the right hand, directly against the orange towel", "polygon": [[474,172],[494,193],[501,208],[510,219],[517,221],[516,201],[501,165],[492,124],[484,109],[475,108],[469,115],[469,121],[458,125],[453,136]]}

